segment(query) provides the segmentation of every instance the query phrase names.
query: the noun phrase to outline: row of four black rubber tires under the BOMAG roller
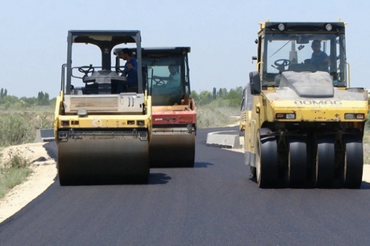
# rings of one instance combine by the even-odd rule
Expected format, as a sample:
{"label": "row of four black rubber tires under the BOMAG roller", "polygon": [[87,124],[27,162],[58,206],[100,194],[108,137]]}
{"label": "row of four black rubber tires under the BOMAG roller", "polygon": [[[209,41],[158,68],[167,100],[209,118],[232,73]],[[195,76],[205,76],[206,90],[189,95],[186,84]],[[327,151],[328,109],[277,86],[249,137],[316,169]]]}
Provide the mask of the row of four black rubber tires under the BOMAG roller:
{"label": "row of four black rubber tires under the BOMAG roller", "polygon": [[[363,175],[362,138],[346,136],[344,141],[344,161],[339,170],[339,187],[358,189]],[[261,138],[258,134],[256,145],[256,167],[251,167],[251,174],[257,179],[260,188],[310,187],[329,188],[334,184],[336,171],[336,149],[334,139],[328,136],[317,138],[316,156],[310,167],[307,158],[307,143],[299,138],[289,138],[288,164],[283,170],[283,179],[279,176],[277,137]],[[307,173],[307,170],[311,170]],[[307,179],[307,177],[310,177]]]}

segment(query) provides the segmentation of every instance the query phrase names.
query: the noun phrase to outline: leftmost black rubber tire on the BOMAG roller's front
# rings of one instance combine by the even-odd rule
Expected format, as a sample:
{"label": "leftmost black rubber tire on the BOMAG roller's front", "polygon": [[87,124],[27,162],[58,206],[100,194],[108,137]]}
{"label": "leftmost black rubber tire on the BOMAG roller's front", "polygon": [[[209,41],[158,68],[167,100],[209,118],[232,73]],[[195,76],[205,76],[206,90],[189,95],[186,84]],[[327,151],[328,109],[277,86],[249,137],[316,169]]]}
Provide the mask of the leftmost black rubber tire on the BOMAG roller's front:
{"label": "leftmost black rubber tire on the BOMAG roller's front", "polygon": [[275,188],[279,181],[276,137],[257,137],[256,176],[259,188]]}

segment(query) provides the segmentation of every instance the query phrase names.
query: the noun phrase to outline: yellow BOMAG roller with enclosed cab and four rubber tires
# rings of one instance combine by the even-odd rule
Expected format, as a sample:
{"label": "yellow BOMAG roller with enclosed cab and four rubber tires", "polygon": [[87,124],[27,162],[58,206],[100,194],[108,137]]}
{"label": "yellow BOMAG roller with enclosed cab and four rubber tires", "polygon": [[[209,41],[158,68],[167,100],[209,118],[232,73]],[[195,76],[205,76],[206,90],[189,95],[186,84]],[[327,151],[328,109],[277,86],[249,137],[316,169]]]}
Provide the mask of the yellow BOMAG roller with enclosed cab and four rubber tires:
{"label": "yellow BOMAG roller with enclosed cab and four rubber tires", "polygon": [[240,115],[258,187],[360,188],[369,96],[350,87],[344,31],[340,20],[260,23]]}

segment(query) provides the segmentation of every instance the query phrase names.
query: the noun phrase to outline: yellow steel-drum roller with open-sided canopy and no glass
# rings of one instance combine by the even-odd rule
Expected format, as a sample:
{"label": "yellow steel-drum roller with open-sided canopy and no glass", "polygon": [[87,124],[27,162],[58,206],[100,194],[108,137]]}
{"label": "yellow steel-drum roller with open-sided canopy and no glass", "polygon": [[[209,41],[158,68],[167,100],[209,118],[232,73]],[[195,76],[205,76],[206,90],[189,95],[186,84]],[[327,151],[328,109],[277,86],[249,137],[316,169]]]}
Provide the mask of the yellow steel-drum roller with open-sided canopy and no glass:
{"label": "yellow steel-drum roller with open-sided canopy and no glass", "polygon": [[[73,43],[97,45],[102,66],[71,67]],[[139,54],[138,85],[132,88],[127,87],[125,74],[119,75],[122,70],[111,69],[112,48],[126,43],[136,43],[140,50],[140,31],[68,32],[67,64],[62,66],[54,122],[62,186],[148,182],[151,97],[144,90],[147,71]],[[85,75],[73,76],[74,68]],[[86,86],[71,86],[71,77],[82,79]],[[125,92],[118,94],[120,83]]]}

